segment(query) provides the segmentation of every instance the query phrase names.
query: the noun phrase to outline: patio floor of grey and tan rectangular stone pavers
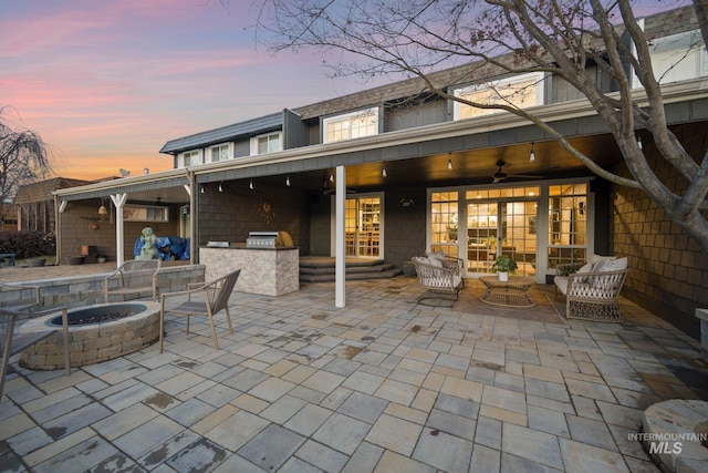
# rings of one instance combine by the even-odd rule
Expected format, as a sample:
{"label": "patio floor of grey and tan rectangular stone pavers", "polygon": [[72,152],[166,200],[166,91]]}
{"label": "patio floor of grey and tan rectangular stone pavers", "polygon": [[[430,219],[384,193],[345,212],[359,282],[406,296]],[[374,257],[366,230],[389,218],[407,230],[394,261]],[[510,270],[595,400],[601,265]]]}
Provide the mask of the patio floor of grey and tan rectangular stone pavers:
{"label": "patio floor of grey and tan rectangular stone pavers", "polygon": [[[629,433],[647,407],[708,399],[697,340],[621,299],[622,325],[538,304],[415,305],[416,279],[235,292],[235,333],[168,319],[157,345],[61,371],[13,368],[0,471],[658,471]],[[199,325],[195,323],[198,322]]]}

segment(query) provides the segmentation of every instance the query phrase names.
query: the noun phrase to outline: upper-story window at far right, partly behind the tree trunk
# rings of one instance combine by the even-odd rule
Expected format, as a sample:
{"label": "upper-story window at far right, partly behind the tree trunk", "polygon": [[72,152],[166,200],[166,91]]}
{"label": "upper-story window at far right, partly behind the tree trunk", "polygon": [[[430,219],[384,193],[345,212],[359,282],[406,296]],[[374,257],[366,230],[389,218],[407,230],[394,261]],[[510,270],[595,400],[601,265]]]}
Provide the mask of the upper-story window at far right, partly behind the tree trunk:
{"label": "upper-story window at far right, partly behind the tree trunk", "polygon": [[[662,84],[708,75],[708,52],[699,30],[656,38],[649,45],[652,68]],[[641,88],[634,78],[635,88]]]}

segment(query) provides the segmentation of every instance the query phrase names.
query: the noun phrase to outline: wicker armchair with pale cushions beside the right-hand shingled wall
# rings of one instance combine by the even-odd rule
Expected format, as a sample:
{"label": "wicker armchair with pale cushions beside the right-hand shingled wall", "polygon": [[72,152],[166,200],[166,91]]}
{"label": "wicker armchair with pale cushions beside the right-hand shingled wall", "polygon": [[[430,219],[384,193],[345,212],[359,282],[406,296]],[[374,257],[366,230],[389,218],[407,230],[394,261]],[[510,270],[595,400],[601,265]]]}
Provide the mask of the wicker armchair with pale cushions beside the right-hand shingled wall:
{"label": "wicker armchair with pale cushions beside the right-hand shingled wall", "polygon": [[565,298],[565,317],[621,322],[624,317],[617,297],[629,273],[627,258],[591,257],[579,264],[558,265],[553,282]]}

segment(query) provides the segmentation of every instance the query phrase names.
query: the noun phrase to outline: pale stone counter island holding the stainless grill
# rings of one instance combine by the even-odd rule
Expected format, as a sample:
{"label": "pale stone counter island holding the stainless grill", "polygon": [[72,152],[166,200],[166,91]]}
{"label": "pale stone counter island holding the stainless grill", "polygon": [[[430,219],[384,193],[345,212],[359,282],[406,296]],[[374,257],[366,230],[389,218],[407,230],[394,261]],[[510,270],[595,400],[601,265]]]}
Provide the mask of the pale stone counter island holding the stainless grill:
{"label": "pale stone counter island holding the stainless grill", "polygon": [[295,247],[247,248],[246,244],[199,247],[205,280],[241,269],[236,288],[241,292],[281,296],[300,290],[300,250]]}

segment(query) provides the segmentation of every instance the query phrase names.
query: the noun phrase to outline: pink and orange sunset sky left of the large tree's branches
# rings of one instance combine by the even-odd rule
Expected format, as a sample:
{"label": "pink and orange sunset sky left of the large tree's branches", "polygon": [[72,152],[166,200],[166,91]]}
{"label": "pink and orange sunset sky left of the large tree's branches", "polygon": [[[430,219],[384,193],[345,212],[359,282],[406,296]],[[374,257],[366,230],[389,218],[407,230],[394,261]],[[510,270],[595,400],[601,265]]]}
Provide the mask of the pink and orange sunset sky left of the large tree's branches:
{"label": "pink and orange sunset sky left of the large tree's branches", "polygon": [[[251,0],[0,2],[0,107],[58,176],[173,167],[168,140],[377,85],[257,44]],[[260,34],[260,32],[259,32]]]}

